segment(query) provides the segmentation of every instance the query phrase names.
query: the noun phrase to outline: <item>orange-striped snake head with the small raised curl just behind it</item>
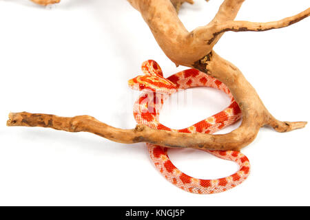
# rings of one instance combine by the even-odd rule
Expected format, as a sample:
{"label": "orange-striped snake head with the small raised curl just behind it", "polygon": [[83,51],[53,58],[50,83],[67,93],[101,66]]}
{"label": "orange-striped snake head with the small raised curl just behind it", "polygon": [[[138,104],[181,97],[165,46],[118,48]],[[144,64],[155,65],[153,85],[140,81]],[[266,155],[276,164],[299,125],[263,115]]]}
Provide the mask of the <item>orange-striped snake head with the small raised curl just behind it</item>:
{"label": "orange-striped snake head with the small raised curl just behind it", "polygon": [[161,67],[156,61],[143,62],[142,72],[145,74],[144,76],[136,76],[128,81],[130,88],[159,94],[173,94],[176,92],[176,85],[163,77]]}

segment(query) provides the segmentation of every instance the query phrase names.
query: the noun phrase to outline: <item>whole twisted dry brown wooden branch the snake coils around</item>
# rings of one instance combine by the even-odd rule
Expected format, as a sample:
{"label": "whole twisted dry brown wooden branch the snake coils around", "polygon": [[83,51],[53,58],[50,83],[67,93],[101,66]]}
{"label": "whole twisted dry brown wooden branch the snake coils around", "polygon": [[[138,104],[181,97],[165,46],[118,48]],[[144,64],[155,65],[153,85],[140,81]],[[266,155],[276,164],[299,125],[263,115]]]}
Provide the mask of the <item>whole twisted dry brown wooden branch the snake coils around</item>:
{"label": "whole twisted dry brown wooden branch the snake coils around", "polygon": [[[41,2],[36,0],[37,2]],[[188,32],[175,10],[185,0],[128,0],[136,8],[158,45],[176,65],[194,67],[224,83],[242,111],[242,124],[231,133],[209,135],[203,133],[175,133],[158,131],[138,124],[135,129],[116,129],[95,118],[82,115],[63,118],[56,115],[10,113],[8,126],[41,126],[70,132],[86,131],[121,143],[149,142],[167,147],[237,150],[256,137],[261,126],[269,125],[279,132],[304,127],[307,122],[281,122],[269,113],[255,89],[240,70],[221,58],[213,47],[227,31],[265,31],[284,28],[310,15],[310,8],[293,17],[268,23],[234,21],[244,0],[225,0],[214,19],[203,27]],[[192,1],[187,1],[192,3]]]}

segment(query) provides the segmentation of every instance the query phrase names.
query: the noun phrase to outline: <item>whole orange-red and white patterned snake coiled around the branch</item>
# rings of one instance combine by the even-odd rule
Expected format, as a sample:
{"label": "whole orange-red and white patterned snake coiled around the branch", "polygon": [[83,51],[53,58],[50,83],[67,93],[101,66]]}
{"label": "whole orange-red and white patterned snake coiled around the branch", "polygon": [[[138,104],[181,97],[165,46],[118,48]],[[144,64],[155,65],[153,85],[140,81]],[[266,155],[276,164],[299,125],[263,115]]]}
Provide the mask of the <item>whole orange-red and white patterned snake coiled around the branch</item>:
{"label": "whole orange-red and white patterned snake coiled around the branch", "polygon": [[[172,131],[178,133],[214,133],[220,129],[234,124],[242,117],[241,110],[227,86],[220,80],[200,72],[198,69],[186,69],[168,78],[163,77],[163,71],[156,61],[148,60],[142,64],[144,75],[136,76],[128,81],[131,89],[143,91],[134,102],[134,118],[138,124],[144,124],[152,129]],[[201,120],[185,129],[170,129],[159,122],[159,113],[163,103],[169,96],[192,87],[211,87],[225,92],[231,99],[229,106]],[[198,179],[191,177],[176,168],[168,156],[168,148],[158,144],[147,143],[149,155],[155,167],[169,182],[187,192],[197,194],[213,194],[224,192],[241,184],[249,176],[249,159],[240,151],[211,151],[199,149],[211,153],[221,159],[227,159],[238,164],[236,173],[219,179]]]}

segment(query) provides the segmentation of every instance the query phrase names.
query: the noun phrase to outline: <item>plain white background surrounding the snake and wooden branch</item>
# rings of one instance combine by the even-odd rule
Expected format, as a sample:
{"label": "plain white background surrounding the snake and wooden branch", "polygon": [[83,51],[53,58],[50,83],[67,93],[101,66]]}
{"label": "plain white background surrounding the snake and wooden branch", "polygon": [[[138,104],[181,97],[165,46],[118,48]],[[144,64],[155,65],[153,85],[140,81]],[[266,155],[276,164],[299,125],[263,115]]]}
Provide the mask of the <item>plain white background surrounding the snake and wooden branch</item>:
{"label": "plain white background surrounding the snake and wooden branch", "polygon": [[[207,24],[221,2],[185,4],[180,19],[193,30]],[[309,0],[245,1],[237,19],[275,21],[306,8]],[[309,121],[309,36],[304,19],[280,30],[226,33],[215,50],[242,70],[276,118]],[[310,205],[309,125],[290,133],[263,127],[242,150],[251,162],[249,178],[216,195],[194,195],[170,184],[143,143],[6,127],[10,111],[29,111],[87,114],[133,128],[127,80],[141,74],[149,58],[165,76],[185,69],[169,61],[125,0],[63,0],[52,10],[27,0],[0,0],[0,205]],[[164,107],[161,122],[181,129],[229,103],[214,89],[192,89],[192,95],[191,106]],[[198,150],[174,149],[169,156],[180,170],[205,179],[238,168]]]}

